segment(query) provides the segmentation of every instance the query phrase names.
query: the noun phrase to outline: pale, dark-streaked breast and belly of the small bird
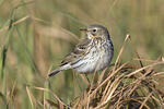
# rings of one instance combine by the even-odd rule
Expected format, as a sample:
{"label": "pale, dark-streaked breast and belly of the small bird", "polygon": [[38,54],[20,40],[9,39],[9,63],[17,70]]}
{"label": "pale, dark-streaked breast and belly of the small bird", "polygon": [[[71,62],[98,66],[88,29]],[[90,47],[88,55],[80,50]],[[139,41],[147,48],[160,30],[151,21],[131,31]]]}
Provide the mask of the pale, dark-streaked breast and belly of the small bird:
{"label": "pale, dark-streaked breast and belly of the small bird", "polygon": [[110,51],[110,45],[107,43],[99,44],[99,41],[94,41],[74,69],[82,73],[103,70],[108,66],[112,58],[113,52]]}

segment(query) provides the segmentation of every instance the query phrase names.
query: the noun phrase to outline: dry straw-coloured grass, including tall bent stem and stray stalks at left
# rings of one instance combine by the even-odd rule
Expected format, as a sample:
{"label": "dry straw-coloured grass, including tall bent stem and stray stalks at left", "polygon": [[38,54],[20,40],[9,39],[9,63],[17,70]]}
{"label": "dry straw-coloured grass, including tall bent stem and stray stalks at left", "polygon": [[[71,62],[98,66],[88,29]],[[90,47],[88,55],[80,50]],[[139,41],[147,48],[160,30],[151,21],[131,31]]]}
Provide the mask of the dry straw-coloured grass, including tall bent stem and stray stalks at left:
{"label": "dry straw-coloured grass, including tall bent stem and stray stalks at left", "polygon": [[[164,93],[161,90],[162,88],[159,88],[160,81],[157,81],[159,76],[164,73],[160,71],[160,65],[164,64],[163,59],[155,61],[140,59],[138,52],[133,48],[137,58],[130,62],[121,63],[120,58],[127,40],[130,40],[130,35],[127,35],[125,44],[110,70],[104,70],[99,75],[94,73],[94,77],[91,82],[86,80],[87,77],[81,75],[82,80],[87,85],[87,88],[75,97],[70,105],[66,105],[60,97],[57,97],[47,88],[34,87],[44,92],[50,92],[57,99],[57,102],[45,99],[44,106],[60,109],[164,108]],[[148,64],[143,65],[143,62],[147,62]],[[30,93],[28,96],[32,99]]]}

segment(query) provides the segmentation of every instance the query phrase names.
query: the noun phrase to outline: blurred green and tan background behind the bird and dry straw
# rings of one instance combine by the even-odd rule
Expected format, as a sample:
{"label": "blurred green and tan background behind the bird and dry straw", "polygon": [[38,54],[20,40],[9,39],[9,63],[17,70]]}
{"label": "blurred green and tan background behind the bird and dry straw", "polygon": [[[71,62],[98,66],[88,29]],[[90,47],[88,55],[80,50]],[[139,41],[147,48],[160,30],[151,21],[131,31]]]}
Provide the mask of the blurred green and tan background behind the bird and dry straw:
{"label": "blurred green and tan background behind the bird and dry straw", "polygon": [[[86,86],[71,70],[50,82],[46,76],[85,37],[79,29],[90,24],[108,28],[115,46],[113,62],[127,34],[141,58],[163,56],[163,0],[0,0],[0,107],[33,108],[30,89],[39,109],[43,92],[27,85],[49,87],[66,104],[80,95]],[[129,44],[122,61],[133,58]]]}

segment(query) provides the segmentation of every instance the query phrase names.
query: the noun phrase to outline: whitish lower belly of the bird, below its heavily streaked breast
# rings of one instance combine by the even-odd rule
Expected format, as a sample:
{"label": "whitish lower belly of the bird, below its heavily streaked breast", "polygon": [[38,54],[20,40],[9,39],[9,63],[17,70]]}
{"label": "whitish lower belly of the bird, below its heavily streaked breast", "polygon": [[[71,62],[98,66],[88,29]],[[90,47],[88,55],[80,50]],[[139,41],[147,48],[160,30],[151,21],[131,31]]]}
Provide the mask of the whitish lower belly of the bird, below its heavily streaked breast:
{"label": "whitish lower belly of the bird, below its heavily streaked breast", "polygon": [[74,70],[80,73],[92,73],[98,70],[105,69],[110,62],[108,52],[105,51],[93,51],[84,57],[83,60],[79,61]]}

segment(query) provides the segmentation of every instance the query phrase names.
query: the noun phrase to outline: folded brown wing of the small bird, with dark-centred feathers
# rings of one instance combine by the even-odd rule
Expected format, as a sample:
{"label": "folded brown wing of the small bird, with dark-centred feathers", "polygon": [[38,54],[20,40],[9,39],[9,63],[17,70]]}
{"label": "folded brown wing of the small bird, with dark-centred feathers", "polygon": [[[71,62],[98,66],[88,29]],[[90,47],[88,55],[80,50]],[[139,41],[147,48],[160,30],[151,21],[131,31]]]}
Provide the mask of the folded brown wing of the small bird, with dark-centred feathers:
{"label": "folded brown wing of the small bird, with dark-centred feathers", "polygon": [[89,48],[89,45],[91,43],[91,39],[85,38],[82,39],[77,46],[75,48],[66,56],[66,58],[63,59],[63,61],[61,62],[61,65],[65,65],[67,63],[75,63],[79,60],[81,60],[84,55],[86,53],[86,49]]}

